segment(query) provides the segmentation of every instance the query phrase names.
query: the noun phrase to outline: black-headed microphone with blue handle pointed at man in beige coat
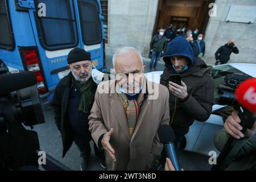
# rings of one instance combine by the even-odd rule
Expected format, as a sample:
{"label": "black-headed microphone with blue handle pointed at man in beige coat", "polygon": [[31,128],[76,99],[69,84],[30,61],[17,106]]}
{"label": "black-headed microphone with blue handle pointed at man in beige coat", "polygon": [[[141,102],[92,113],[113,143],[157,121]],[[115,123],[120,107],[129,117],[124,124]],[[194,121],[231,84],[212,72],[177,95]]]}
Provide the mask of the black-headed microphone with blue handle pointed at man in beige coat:
{"label": "black-headed microphone with blue handle pointed at man in beige coat", "polygon": [[176,171],[180,171],[180,165],[177,161],[174,148],[175,135],[174,130],[169,125],[160,125],[158,129],[158,137],[160,142],[164,144],[164,150],[167,157],[171,160]]}

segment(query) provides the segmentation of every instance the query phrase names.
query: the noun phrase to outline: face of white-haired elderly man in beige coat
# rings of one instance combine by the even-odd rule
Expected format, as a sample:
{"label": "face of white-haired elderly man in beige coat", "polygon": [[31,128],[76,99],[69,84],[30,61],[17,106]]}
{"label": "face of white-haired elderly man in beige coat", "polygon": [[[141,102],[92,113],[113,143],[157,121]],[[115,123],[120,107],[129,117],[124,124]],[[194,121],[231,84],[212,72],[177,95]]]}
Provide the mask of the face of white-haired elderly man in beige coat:
{"label": "face of white-haired elderly man in beige coat", "polygon": [[128,50],[117,55],[115,59],[115,73],[118,85],[127,93],[139,93],[143,81],[146,79],[139,55]]}

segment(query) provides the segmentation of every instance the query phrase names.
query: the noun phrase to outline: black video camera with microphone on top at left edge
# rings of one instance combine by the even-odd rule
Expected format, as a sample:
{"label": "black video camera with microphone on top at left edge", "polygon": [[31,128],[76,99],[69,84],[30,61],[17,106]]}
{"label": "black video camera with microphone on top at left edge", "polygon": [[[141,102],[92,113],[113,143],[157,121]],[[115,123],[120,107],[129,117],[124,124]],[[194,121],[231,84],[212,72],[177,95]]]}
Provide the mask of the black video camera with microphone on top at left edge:
{"label": "black video camera with microphone on top at left edge", "polygon": [[0,85],[0,135],[10,123],[33,127],[45,122],[34,73],[10,73],[1,61]]}

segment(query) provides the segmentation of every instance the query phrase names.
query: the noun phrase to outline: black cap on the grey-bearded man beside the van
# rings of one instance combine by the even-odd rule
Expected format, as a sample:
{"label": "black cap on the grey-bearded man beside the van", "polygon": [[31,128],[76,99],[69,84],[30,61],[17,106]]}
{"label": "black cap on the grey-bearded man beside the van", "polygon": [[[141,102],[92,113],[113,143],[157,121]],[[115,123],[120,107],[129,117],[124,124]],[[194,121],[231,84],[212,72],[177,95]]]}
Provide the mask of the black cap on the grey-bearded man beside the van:
{"label": "black cap on the grey-bearded man beside the van", "polygon": [[86,52],[84,49],[75,48],[68,53],[68,64],[88,60],[92,60],[90,58],[90,52]]}

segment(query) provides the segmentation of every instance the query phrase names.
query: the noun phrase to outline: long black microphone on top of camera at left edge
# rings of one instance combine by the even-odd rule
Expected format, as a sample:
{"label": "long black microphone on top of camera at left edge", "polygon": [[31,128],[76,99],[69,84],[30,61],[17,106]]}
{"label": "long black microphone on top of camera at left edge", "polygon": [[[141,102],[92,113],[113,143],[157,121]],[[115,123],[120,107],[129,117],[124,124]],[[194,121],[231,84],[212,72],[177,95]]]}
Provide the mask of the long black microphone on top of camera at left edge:
{"label": "long black microphone on top of camera at left edge", "polygon": [[3,74],[0,75],[0,94],[6,94],[36,84],[37,81],[34,72]]}

